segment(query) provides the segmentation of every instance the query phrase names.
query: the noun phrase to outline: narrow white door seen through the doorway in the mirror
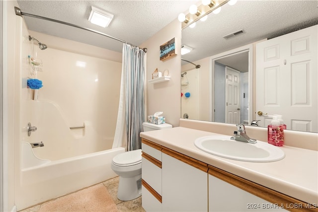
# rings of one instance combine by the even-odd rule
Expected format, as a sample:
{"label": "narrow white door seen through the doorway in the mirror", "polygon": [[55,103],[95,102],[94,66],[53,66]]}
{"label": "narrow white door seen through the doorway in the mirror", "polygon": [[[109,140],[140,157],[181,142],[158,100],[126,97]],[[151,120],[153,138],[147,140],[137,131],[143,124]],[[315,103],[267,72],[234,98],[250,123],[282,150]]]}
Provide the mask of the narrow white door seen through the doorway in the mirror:
{"label": "narrow white door seen through the doorway in the mirror", "polygon": [[239,107],[239,71],[230,67],[226,71],[226,123],[239,124],[240,107]]}

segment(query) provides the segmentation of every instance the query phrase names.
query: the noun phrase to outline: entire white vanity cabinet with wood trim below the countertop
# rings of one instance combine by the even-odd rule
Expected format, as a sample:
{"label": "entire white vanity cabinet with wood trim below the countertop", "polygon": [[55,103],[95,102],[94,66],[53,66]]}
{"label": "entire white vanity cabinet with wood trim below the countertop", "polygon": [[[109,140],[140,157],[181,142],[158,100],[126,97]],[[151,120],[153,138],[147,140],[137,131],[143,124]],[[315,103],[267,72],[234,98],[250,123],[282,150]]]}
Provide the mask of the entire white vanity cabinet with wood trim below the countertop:
{"label": "entire white vanity cabinet with wood trim below the countertop", "polygon": [[142,139],[147,212],[318,212],[310,205],[155,142]]}

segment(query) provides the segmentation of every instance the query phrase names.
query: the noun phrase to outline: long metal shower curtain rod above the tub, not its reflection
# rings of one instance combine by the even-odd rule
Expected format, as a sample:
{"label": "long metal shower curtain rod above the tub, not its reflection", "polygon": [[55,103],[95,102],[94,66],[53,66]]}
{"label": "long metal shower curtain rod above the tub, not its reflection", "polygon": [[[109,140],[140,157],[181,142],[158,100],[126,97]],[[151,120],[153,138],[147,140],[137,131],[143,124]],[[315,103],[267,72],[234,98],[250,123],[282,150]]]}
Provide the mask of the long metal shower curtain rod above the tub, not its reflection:
{"label": "long metal shower curtain rod above the tub, not its reflection", "polygon": [[[25,15],[25,16],[29,16],[29,17],[33,17],[33,18],[39,18],[39,19],[43,19],[43,20],[48,20],[48,21],[53,21],[53,22],[56,22],[56,23],[61,23],[61,24],[65,24],[65,25],[68,25],[68,26],[73,26],[73,27],[76,27],[76,28],[79,28],[79,29],[83,29],[83,30],[86,30],[86,31],[89,31],[89,32],[93,32],[93,33],[96,33],[96,34],[99,34],[99,35],[103,35],[105,37],[108,37],[108,38],[111,38],[111,39],[114,39],[114,40],[117,40],[117,41],[120,41],[122,43],[126,43],[126,44],[129,44],[133,47],[138,47],[132,43],[129,43],[127,41],[124,41],[122,39],[119,39],[119,38],[115,38],[113,36],[110,36],[110,35],[107,35],[107,34],[104,34],[102,32],[98,32],[96,30],[93,30],[93,29],[89,29],[89,28],[84,28],[84,27],[81,27],[79,25],[75,25],[75,24],[72,24],[72,23],[68,23],[68,22],[64,22],[64,21],[59,21],[59,20],[56,20],[56,19],[52,19],[52,18],[47,18],[47,17],[43,17],[43,16],[39,16],[39,15],[34,15],[34,14],[29,14],[29,13],[25,13],[25,12],[22,12],[20,8],[18,7],[14,7],[14,11],[15,11],[15,14],[16,15],[19,15],[21,17],[23,17],[22,15]],[[147,52],[147,48],[144,48],[143,49],[145,52]]]}

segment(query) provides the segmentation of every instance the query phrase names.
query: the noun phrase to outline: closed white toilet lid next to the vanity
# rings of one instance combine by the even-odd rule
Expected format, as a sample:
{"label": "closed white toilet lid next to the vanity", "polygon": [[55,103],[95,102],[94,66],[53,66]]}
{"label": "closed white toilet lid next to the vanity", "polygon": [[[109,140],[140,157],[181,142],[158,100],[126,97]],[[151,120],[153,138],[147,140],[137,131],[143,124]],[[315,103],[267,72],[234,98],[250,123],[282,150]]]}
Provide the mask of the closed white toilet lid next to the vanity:
{"label": "closed white toilet lid next to the vanity", "polygon": [[113,163],[119,166],[141,163],[141,149],[120,153],[113,158]]}

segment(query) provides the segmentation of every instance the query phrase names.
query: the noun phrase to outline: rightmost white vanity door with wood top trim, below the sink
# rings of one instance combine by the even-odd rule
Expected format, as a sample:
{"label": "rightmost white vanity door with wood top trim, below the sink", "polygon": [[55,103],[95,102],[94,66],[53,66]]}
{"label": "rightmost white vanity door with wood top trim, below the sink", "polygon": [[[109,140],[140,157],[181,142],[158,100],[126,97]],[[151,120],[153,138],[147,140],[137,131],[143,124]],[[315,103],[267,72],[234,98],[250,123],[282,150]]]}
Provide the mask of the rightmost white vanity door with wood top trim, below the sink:
{"label": "rightmost white vanity door with wood top trim, below the sink", "polygon": [[[209,212],[280,212],[303,203],[209,165]],[[283,207],[283,208],[281,208]],[[299,208],[303,209],[303,208]]]}

